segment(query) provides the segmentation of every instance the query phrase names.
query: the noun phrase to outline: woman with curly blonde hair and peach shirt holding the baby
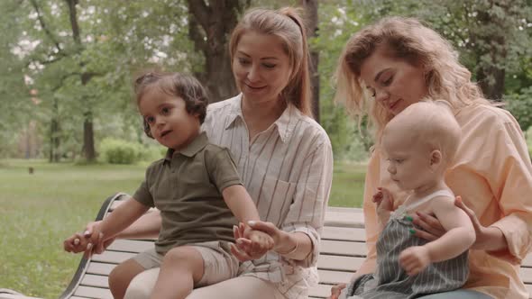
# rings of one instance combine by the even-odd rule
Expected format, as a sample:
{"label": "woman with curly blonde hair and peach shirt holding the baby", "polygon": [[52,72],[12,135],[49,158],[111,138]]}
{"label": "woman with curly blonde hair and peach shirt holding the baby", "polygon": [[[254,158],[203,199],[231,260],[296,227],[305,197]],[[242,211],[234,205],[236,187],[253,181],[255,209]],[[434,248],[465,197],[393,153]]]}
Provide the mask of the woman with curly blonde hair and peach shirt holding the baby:
{"label": "woman with curly blonde hair and peach shirt holding the baby", "polygon": [[[382,130],[408,105],[429,96],[448,101],[462,129],[445,182],[462,197],[463,204],[455,204],[471,218],[476,241],[463,289],[423,298],[527,298],[518,273],[532,244],[532,166],[514,117],[483,98],[450,43],[415,19],[386,18],[355,33],[336,75],[336,98],[356,115],[369,114],[377,142],[363,201],[368,256],[354,278],[375,271],[381,229],[371,196],[378,187],[389,189],[394,209],[406,198],[386,171],[378,143]],[[436,240],[444,234],[427,213],[417,213],[414,223],[422,228],[415,231],[418,237]],[[331,298],[341,288],[333,288]]]}

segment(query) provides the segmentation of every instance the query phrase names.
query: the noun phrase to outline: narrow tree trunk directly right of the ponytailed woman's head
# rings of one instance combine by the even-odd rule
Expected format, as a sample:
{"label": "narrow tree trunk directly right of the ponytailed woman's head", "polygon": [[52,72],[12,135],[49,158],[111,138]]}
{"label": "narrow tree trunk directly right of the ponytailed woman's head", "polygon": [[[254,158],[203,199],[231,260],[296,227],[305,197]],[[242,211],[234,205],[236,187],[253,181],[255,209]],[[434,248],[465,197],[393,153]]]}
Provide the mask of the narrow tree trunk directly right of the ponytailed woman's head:
{"label": "narrow tree trunk directly right of the ponytailed woman's head", "polygon": [[[317,0],[301,0],[301,6],[305,9],[307,16],[307,39],[317,36]],[[319,73],[317,70],[319,63],[319,52],[310,50],[310,82],[312,84],[312,114],[316,122],[319,122]]]}

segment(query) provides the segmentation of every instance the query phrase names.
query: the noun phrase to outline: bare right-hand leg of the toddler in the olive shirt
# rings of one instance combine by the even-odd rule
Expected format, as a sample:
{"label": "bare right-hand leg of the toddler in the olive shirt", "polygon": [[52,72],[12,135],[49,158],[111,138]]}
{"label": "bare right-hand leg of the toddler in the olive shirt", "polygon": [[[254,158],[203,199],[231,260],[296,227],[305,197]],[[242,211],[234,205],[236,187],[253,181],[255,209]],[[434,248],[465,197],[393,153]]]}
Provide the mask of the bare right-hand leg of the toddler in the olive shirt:
{"label": "bare right-hand leg of the toddler in the olive shirt", "polygon": [[203,258],[192,247],[171,249],[164,256],[151,298],[184,299],[203,276]]}

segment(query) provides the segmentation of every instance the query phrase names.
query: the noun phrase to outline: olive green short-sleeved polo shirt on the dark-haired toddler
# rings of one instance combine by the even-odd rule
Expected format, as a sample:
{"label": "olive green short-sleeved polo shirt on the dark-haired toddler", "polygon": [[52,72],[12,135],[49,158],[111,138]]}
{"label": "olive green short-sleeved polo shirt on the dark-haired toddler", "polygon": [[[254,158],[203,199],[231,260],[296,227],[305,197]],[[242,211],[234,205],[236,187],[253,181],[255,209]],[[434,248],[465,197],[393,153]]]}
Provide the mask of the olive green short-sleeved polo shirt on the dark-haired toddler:
{"label": "olive green short-sleeved polo shirt on the dark-haired toddler", "polygon": [[133,198],[161,211],[157,252],[189,243],[234,241],[237,221],[222,196],[233,185],[242,181],[229,149],[209,143],[205,132],[185,149],[169,149],[164,159],[153,162]]}

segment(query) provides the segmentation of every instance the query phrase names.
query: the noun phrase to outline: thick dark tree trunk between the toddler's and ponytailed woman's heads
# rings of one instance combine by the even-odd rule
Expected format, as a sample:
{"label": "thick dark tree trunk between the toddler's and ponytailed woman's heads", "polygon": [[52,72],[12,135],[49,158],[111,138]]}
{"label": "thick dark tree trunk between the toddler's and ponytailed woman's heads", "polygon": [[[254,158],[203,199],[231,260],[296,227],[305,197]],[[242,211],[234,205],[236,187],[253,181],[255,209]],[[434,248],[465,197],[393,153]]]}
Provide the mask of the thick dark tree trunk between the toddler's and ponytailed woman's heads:
{"label": "thick dark tree trunk between the toddler's and ponytailed woman's heads", "polygon": [[211,102],[234,96],[238,91],[231,71],[228,41],[238,15],[249,5],[242,0],[188,0],[188,36],[205,57],[197,78],[206,86]]}

